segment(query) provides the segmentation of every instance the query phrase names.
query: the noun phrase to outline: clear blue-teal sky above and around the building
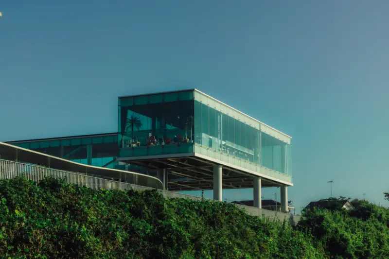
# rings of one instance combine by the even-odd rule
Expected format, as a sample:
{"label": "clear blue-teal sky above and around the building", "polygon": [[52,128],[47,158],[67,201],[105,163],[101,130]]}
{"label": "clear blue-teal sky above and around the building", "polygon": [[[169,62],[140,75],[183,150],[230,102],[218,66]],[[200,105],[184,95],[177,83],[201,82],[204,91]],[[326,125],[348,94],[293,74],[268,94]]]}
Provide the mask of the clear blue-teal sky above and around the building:
{"label": "clear blue-teal sky above and around the building", "polygon": [[292,136],[297,208],[329,197],[330,180],[333,196],[389,205],[388,0],[2,0],[0,12],[2,141],[115,132],[118,96],[198,88]]}

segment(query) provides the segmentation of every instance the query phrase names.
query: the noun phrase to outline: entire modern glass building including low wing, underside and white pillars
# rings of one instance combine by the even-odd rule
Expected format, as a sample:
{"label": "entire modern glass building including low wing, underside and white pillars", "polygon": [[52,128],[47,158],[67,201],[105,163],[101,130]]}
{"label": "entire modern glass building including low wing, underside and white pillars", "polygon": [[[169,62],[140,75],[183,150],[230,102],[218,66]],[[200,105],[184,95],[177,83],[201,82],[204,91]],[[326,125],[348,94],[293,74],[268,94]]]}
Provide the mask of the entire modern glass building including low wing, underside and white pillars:
{"label": "entire modern glass building including low wing, underside and white pillars", "polygon": [[8,143],[155,174],[169,190],[218,193],[219,185],[254,188],[258,196],[280,186],[287,200],[293,186],[291,137],[196,89],[119,97],[117,133]]}

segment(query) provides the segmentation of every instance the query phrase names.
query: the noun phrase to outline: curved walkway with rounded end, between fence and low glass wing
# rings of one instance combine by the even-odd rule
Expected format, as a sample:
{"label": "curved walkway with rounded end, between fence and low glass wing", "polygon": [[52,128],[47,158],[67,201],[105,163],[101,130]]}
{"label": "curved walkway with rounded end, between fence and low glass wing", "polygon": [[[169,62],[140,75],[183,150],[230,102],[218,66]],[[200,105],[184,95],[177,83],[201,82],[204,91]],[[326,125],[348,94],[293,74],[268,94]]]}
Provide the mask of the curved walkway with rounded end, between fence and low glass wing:
{"label": "curved walkway with rounded end, between fence and low glass wing", "polygon": [[110,169],[104,167],[90,166],[53,155],[39,153],[33,150],[17,147],[11,144],[0,142],[0,158],[44,166],[63,171],[86,173],[93,175],[104,175],[112,178],[121,178],[126,183],[141,185],[150,188],[163,189],[162,182],[153,176],[134,173],[124,170]]}

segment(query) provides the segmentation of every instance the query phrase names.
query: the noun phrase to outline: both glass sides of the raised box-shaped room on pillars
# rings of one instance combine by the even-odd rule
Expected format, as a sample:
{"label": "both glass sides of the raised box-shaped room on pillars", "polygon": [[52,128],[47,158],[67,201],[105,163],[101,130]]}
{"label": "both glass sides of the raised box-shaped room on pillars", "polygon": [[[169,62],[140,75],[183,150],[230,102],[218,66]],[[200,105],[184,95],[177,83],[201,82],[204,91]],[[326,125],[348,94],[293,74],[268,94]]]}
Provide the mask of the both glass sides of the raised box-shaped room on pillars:
{"label": "both glass sides of the raised box-shaped room on pillars", "polygon": [[119,98],[120,157],[197,153],[291,181],[290,137],[197,90]]}

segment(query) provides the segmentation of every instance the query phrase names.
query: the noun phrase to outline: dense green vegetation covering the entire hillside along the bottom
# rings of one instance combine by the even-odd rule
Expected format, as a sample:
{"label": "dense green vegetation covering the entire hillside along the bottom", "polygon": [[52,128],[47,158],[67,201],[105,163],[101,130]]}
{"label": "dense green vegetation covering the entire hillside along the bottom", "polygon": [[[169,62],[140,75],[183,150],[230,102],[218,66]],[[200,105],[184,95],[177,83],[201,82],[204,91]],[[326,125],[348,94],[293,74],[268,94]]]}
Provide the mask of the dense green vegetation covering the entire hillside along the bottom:
{"label": "dense green vegetation covering the entire hillside along the bottom", "polygon": [[0,199],[6,259],[389,258],[388,212],[367,202],[355,215],[307,211],[294,228],[228,203],[91,190],[53,178],[0,180]]}

